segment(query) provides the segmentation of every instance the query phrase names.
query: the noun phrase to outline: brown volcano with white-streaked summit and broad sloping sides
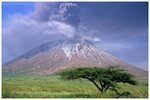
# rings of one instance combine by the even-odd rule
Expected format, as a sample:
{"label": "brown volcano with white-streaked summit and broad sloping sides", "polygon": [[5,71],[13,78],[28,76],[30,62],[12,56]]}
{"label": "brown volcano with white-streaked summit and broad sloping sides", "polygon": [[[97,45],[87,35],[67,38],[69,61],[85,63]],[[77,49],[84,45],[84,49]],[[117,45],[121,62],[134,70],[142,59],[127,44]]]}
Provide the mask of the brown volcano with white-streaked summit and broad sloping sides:
{"label": "brown volcano with white-streaked summit and broad sloping sides", "polygon": [[2,71],[48,75],[66,68],[118,66],[139,79],[148,72],[112,56],[88,40],[68,39],[42,44],[3,64]]}

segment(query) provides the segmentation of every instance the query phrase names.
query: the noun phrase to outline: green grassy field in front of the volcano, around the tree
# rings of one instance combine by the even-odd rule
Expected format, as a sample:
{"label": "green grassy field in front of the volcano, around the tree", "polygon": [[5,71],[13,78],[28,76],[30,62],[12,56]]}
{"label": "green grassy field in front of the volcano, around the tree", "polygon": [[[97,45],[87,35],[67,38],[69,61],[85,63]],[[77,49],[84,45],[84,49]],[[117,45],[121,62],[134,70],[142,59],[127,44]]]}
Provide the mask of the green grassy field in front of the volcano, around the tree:
{"label": "green grassy field in front of the volcano, around the tree", "polygon": [[148,84],[139,80],[138,85],[118,84],[118,90],[100,93],[87,80],[62,80],[59,76],[6,76],[2,79],[3,98],[147,98]]}

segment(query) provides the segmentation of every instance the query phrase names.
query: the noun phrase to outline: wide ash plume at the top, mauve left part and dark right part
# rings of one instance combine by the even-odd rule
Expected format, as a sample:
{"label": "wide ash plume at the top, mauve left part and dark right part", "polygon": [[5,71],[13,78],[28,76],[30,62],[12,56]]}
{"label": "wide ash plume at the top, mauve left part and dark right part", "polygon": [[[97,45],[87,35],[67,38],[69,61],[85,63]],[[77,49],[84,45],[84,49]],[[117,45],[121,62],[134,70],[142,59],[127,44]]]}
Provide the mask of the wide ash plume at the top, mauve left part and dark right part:
{"label": "wide ash plume at the top, mauve left part and dark right part", "polygon": [[57,20],[77,27],[80,23],[79,12],[76,3],[36,3],[32,17],[38,21]]}

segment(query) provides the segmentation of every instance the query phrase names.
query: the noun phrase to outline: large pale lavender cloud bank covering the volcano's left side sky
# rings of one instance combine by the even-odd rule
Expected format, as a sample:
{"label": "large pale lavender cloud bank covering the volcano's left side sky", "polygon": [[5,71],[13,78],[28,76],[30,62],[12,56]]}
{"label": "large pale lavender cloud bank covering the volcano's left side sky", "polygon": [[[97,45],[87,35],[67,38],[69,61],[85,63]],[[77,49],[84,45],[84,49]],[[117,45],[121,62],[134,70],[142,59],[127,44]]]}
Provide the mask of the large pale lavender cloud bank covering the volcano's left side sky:
{"label": "large pale lavender cloud bank covering the volcano's left side sky", "polygon": [[[58,6],[58,7],[57,7]],[[73,3],[36,3],[29,14],[14,14],[3,26],[3,62],[47,41],[73,37],[75,27],[63,22],[67,10],[77,6]],[[63,17],[52,19],[53,15]]]}

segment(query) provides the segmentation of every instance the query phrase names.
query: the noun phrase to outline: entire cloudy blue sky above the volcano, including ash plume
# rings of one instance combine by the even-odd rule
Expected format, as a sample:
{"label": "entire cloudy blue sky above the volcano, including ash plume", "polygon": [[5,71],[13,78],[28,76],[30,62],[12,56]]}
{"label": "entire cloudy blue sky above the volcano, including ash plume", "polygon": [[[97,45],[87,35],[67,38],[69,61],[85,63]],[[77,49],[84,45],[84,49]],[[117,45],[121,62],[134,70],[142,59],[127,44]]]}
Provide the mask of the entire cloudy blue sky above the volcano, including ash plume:
{"label": "entire cloudy blue sky above the volcano, including ash plume", "polygon": [[148,70],[147,2],[3,2],[2,62],[48,41],[88,39]]}

